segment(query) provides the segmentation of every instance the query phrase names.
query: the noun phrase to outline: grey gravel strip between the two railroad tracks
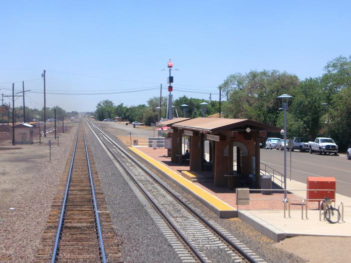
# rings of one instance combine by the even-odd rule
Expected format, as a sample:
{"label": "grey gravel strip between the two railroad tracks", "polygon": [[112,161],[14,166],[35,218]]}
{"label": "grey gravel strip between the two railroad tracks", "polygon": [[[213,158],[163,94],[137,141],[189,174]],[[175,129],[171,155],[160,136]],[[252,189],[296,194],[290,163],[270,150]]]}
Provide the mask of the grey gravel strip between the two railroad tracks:
{"label": "grey gravel strip between the two railroad tracks", "polygon": [[160,229],[131,190],[96,137],[88,130],[112,226],[122,239],[124,262],[180,262]]}

